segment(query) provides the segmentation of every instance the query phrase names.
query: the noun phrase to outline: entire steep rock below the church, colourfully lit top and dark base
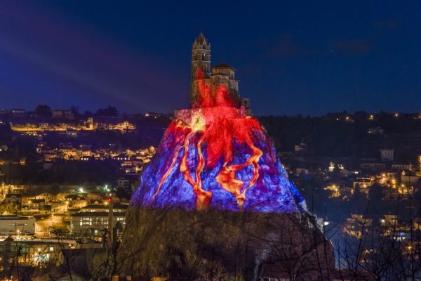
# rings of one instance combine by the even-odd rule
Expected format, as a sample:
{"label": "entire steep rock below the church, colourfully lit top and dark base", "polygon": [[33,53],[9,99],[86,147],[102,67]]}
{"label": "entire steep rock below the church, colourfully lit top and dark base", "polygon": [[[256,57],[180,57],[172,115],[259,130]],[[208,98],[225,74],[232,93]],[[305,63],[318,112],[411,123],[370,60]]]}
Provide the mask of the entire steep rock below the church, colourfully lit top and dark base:
{"label": "entire steep rock below the church, colourfully lit top and dark base", "polygon": [[328,280],[331,245],[265,129],[234,106],[223,84],[210,93],[200,82],[200,107],[178,112],[133,194],[122,272]]}

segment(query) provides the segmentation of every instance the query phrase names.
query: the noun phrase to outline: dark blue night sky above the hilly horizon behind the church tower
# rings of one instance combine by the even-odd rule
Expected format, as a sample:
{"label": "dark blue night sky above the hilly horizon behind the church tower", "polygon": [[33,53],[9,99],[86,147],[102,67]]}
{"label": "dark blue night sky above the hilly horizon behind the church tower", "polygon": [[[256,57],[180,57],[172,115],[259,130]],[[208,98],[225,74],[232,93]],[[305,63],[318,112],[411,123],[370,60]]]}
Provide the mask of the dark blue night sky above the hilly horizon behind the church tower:
{"label": "dark blue night sky above the hilly horizon behind the church tower", "polygon": [[144,2],[0,0],[0,107],[187,107],[202,27],[257,115],[421,111],[420,1]]}

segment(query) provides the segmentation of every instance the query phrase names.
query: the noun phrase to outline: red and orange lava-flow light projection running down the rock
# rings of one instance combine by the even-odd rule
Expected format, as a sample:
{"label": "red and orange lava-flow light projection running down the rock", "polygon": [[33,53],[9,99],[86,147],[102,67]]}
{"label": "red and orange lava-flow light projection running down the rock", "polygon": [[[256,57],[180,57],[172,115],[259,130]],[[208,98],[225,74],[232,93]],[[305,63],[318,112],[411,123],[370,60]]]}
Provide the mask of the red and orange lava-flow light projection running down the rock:
{"label": "red and orange lava-flow light projection running down the rock", "polygon": [[[227,192],[236,197],[236,202],[239,209],[242,209],[243,203],[246,200],[246,191],[250,189],[257,181],[259,176],[259,159],[262,156],[262,151],[256,148],[251,141],[250,132],[253,129],[262,131],[262,127],[258,121],[241,115],[239,109],[232,107],[232,101],[229,99],[227,87],[225,85],[218,86],[215,94],[211,93],[205,86],[203,86],[203,73],[199,70],[199,93],[201,107],[198,110],[191,110],[187,118],[182,117],[183,122],[170,126],[168,133],[175,133],[178,130],[186,130],[187,134],[184,143],[178,147],[173,155],[173,160],[168,170],[163,174],[159,186],[152,196],[151,204],[153,204],[156,195],[159,194],[161,186],[166,181],[166,178],[174,168],[176,159],[180,150],[183,149],[183,155],[180,162],[180,172],[184,175],[185,181],[192,185],[193,192],[196,195],[196,209],[208,209],[212,192],[203,190],[201,181],[201,172],[205,165],[214,167],[219,159],[224,159],[224,164],[216,181],[220,183],[221,187]],[[197,142],[197,163],[194,169],[194,177],[191,174],[192,167],[187,162],[189,155],[190,139],[193,136],[199,136]],[[232,162],[232,147],[234,141],[239,145],[248,145],[253,151],[253,155],[247,159],[243,164],[229,164]],[[207,161],[203,157],[202,146],[206,144]],[[236,172],[245,168],[246,166],[253,166],[253,178],[248,183],[246,188],[244,182],[236,178]]]}

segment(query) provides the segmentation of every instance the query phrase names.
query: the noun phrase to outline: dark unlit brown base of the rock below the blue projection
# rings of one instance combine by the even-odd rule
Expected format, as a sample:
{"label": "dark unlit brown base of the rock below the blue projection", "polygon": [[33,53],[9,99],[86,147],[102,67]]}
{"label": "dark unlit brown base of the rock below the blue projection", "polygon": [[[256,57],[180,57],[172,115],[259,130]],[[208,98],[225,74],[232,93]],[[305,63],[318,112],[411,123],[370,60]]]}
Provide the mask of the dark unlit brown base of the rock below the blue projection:
{"label": "dark unlit brown base of the rock below the blue projection", "polygon": [[[171,280],[330,280],[333,247],[308,215],[131,207],[121,272]],[[319,278],[319,279],[318,279]]]}

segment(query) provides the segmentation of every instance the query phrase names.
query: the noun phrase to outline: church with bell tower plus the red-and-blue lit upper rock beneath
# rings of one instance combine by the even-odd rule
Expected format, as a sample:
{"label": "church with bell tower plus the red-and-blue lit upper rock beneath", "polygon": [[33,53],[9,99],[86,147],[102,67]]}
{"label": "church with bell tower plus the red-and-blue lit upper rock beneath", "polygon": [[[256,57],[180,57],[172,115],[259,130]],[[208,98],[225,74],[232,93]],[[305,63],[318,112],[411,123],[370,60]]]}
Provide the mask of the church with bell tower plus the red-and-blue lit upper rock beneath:
{"label": "church with bell tower plus the red-and-blue lit upper rock beneath", "polygon": [[200,33],[192,51],[192,108],[178,111],[166,130],[132,205],[267,213],[306,210],[272,140],[241,103],[234,72],[226,64],[210,68],[210,45]]}

